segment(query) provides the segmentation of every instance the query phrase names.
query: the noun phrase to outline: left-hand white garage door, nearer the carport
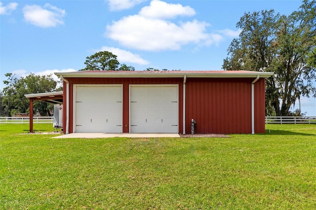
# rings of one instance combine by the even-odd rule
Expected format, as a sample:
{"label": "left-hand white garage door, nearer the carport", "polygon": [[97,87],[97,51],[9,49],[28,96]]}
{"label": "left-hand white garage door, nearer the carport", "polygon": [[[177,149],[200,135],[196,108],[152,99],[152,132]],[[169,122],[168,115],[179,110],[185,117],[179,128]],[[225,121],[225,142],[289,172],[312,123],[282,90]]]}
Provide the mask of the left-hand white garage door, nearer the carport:
{"label": "left-hand white garage door, nearer the carport", "polygon": [[122,133],[122,86],[76,86],[76,132]]}

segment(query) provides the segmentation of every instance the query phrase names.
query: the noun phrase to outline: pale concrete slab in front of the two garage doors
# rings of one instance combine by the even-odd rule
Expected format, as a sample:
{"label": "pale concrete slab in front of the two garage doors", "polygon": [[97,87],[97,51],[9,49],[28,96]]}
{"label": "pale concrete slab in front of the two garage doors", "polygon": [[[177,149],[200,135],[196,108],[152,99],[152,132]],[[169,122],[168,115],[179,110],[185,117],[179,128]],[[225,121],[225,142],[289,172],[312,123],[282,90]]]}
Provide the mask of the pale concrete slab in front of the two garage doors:
{"label": "pale concrete slab in front of the two garage doors", "polygon": [[53,139],[70,139],[70,138],[180,138],[179,134],[107,134],[107,133],[73,133],[62,136],[53,137]]}

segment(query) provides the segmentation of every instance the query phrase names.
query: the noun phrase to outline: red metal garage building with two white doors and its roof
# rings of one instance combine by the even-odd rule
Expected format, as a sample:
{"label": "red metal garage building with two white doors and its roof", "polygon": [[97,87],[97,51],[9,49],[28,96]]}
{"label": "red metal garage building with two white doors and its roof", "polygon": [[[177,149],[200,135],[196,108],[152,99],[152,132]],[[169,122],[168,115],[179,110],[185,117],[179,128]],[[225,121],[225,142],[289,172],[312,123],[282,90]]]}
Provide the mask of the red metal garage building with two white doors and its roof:
{"label": "red metal garage building with two white doors and its roof", "polygon": [[76,71],[64,81],[64,133],[265,132],[256,71]]}

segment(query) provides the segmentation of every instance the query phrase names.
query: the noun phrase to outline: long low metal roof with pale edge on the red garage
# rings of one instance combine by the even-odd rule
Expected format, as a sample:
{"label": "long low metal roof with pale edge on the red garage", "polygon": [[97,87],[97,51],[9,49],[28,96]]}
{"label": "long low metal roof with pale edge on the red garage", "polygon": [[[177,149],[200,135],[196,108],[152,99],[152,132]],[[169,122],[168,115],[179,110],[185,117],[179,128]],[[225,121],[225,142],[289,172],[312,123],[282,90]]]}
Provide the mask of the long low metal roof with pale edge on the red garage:
{"label": "long low metal roof with pale edge on the red garage", "polygon": [[57,76],[62,77],[269,77],[273,72],[245,71],[245,70],[157,70],[157,71],[115,71],[115,70],[93,70],[93,71],[73,71],[73,72],[56,72]]}

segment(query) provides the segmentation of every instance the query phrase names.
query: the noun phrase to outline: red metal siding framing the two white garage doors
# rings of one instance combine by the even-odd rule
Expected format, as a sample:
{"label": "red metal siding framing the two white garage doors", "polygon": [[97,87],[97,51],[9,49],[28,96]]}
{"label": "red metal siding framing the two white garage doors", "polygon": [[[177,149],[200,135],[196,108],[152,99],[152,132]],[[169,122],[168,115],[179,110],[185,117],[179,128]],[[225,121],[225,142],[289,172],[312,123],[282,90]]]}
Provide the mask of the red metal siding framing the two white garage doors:
{"label": "red metal siding framing the two white garage doors", "polygon": [[[179,116],[179,133],[183,128],[183,78],[66,78],[69,81],[69,133],[73,133],[73,87],[76,84],[122,84],[123,85],[123,133],[129,132],[129,85],[130,84],[178,84],[178,116]],[[66,85],[64,84],[64,87]],[[66,92],[64,90],[64,97]],[[66,100],[64,100],[66,101]],[[64,112],[65,113],[65,112]],[[65,118],[66,119],[66,118]]]}

